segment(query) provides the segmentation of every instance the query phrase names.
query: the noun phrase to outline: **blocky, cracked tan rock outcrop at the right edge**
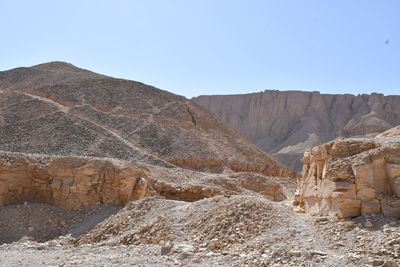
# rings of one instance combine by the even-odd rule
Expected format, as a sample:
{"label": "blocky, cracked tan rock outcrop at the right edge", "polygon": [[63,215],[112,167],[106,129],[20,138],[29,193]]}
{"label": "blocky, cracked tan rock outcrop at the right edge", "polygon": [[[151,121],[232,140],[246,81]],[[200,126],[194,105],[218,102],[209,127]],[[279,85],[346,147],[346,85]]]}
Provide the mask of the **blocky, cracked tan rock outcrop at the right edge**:
{"label": "blocky, cracked tan rock outcrop at the right edge", "polygon": [[400,135],[335,140],[304,153],[298,202],[306,212],[400,217]]}

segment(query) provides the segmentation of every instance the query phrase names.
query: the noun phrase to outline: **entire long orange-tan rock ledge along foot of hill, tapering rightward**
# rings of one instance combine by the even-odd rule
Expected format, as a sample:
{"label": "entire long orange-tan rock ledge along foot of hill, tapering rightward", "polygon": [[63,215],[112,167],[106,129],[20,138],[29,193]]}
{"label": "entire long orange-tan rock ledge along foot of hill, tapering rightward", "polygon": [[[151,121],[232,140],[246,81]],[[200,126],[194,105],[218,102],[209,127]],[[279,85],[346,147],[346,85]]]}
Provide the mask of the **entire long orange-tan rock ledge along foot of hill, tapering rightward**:
{"label": "entire long orange-tan rock ledge along foot of hill, tapering rightward", "polygon": [[224,194],[283,200],[282,187],[256,173],[210,174],[116,159],[0,153],[0,206],[22,201],[64,208],[125,205],[148,196],[195,201]]}

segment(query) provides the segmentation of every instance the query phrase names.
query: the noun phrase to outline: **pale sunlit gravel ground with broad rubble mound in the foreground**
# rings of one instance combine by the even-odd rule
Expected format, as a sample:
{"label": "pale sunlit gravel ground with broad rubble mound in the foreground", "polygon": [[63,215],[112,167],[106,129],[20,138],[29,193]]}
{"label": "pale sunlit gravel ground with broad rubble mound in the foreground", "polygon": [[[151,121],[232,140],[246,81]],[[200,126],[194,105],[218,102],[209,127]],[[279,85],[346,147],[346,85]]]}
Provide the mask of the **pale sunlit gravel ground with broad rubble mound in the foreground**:
{"label": "pale sunlit gravel ground with broad rubble mound in the foreground", "polygon": [[289,200],[152,197],[129,203],[78,238],[0,245],[0,266],[391,267],[400,259],[399,226],[399,219],[382,215],[338,220],[296,213]]}

